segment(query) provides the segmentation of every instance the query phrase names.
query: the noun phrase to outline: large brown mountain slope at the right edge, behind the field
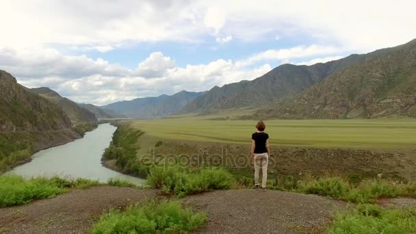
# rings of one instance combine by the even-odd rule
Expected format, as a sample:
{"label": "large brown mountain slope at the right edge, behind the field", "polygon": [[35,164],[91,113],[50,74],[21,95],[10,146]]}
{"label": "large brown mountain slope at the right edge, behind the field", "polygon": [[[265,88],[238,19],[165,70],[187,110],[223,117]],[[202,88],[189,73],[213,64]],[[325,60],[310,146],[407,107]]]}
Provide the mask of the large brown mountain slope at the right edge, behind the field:
{"label": "large brown mountain slope at the right edge, behind the field", "polygon": [[416,40],[380,49],[256,118],[416,118]]}

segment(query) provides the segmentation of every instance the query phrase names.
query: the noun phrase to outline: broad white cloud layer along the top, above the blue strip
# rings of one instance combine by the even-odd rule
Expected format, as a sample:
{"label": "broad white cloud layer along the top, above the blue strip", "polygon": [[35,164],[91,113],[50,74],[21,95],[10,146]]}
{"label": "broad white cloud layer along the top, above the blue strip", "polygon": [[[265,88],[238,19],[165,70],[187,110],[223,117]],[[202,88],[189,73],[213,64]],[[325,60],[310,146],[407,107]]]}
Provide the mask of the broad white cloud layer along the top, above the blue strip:
{"label": "broad white cloud layer along the top, above the blue strip", "polygon": [[0,47],[15,49],[67,44],[105,52],[116,43],[199,42],[219,34],[265,40],[278,31],[280,38],[307,35],[372,51],[416,38],[413,0],[14,0],[0,8]]}

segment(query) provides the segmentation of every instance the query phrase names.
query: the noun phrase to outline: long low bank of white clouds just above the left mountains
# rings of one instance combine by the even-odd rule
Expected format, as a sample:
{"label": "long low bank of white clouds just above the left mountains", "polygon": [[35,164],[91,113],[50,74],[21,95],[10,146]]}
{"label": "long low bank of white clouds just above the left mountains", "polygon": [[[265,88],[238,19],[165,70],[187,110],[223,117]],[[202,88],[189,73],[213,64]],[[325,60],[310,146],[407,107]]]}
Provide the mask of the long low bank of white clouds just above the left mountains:
{"label": "long low bank of white clouds just above the left mountains", "polygon": [[129,70],[103,59],[62,55],[53,49],[26,53],[1,50],[0,67],[29,88],[47,86],[73,101],[96,105],[181,90],[209,90],[242,79],[255,79],[272,69],[269,64],[242,67],[222,59],[179,67],[170,57],[154,52],[136,70]]}

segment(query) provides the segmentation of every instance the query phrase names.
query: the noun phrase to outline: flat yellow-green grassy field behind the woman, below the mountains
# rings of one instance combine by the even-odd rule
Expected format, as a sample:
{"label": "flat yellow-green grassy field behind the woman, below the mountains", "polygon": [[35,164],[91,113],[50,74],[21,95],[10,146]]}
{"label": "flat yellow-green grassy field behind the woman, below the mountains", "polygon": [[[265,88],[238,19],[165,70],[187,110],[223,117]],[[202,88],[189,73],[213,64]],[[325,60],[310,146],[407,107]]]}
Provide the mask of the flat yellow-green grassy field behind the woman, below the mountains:
{"label": "flat yellow-green grassy field behind the woman, below the mountains", "polygon": [[[300,147],[414,148],[416,120],[268,120],[270,144]],[[252,120],[170,118],[132,126],[165,139],[250,143]]]}

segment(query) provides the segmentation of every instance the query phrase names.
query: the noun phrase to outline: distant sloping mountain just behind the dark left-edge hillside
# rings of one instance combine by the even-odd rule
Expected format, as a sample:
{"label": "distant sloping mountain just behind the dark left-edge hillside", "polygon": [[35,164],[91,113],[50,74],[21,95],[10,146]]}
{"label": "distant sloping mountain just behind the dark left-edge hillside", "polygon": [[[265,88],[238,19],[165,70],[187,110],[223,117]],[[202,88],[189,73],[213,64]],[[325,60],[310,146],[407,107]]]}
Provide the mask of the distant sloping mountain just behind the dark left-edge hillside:
{"label": "distant sloping mountain just behind the dark left-edge hillside", "polygon": [[36,94],[43,96],[52,103],[59,105],[73,123],[97,121],[94,114],[88,109],[80,107],[77,103],[60,96],[60,94],[57,94],[57,92],[51,90],[50,88],[42,87],[32,88],[30,90],[31,92],[35,92]]}

